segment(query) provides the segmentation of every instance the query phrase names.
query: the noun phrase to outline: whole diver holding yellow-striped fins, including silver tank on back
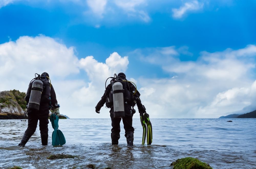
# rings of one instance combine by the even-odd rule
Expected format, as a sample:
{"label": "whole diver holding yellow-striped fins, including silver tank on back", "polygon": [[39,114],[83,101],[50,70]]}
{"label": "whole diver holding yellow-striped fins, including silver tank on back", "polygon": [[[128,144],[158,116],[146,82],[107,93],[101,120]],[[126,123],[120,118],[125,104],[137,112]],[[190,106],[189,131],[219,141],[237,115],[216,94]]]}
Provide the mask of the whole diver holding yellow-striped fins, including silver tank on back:
{"label": "whole diver holding yellow-striped fins, including silver tank on back", "polygon": [[118,144],[122,119],[127,146],[133,146],[132,117],[135,113],[134,106],[137,103],[140,112],[144,112],[145,107],[141,104],[140,93],[137,91],[136,85],[134,84],[134,86],[132,82],[128,81],[124,73],[119,73],[117,76],[115,74],[114,77],[109,78],[112,78],[110,84],[106,87],[105,83],[106,90],[95,107],[95,111],[100,113],[100,109],[105,103],[106,107],[110,108],[112,145]]}

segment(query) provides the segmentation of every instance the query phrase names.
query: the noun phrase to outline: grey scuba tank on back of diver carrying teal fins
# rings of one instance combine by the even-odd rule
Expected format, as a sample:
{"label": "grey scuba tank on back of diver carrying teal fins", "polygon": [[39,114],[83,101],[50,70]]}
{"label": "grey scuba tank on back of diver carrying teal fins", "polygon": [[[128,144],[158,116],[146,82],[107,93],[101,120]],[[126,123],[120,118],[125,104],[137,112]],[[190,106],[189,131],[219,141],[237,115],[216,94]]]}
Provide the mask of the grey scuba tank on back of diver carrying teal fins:
{"label": "grey scuba tank on back of diver carrying teal fins", "polygon": [[39,79],[32,83],[31,93],[28,102],[28,108],[34,108],[39,110],[40,100],[43,91],[43,82]]}

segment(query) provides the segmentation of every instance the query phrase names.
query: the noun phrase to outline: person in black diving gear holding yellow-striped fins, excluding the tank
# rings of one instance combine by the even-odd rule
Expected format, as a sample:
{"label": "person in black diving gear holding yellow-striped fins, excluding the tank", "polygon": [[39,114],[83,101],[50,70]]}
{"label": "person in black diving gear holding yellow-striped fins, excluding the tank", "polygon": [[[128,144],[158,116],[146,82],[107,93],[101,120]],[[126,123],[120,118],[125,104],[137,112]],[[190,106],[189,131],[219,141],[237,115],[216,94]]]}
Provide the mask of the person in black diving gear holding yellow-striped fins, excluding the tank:
{"label": "person in black diving gear holding yellow-striped fins, excluding the tank", "polygon": [[[135,113],[135,110],[132,108],[136,102],[135,97],[140,97],[140,93],[136,91],[136,88],[131,82],[126,81],[126,76],[124,73],[118,74],[118,79],[123,85],[124,89],[124,112],[125,117],[122,118],[114,118],[114,106],[113,106],[113,81],[106,87],[106,90],[101,97],[101,100],[95,107],[95,111],[100,113],[101,107],[106,103],[106,107],[110,108],[110,117],[111,117],[111,140],[112,144],[118,144],[118,140],[120,138],[120,122],[121,119],[123,120],[124,130],[125,130],[125,137],[127,140],[128,146],[133,146],[133,133],[134,128],[132,126],[132,117]],[[136,92],[136,93],[135,93]],[[134,105],[133,105],[134,104]],[[141,103],[140,103],[141,104]],[[141,105],[142,106],[142,105]]]}

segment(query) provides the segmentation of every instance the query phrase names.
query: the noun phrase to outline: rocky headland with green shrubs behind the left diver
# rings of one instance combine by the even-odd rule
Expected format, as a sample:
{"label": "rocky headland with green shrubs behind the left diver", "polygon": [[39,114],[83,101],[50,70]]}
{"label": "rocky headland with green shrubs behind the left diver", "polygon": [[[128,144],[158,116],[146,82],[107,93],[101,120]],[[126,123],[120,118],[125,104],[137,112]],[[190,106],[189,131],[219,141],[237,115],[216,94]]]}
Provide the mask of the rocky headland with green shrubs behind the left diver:
{"label": "rocky headland with green shrubs behind the left diver", "polygon": [[[0,92],[0,119],[27,119],[24,116],[27,102],[25,92],[19,90]],[[51,114],[51,113],[50,113]],[[60,114],[60,119],[69,119],[68,116]]]}

